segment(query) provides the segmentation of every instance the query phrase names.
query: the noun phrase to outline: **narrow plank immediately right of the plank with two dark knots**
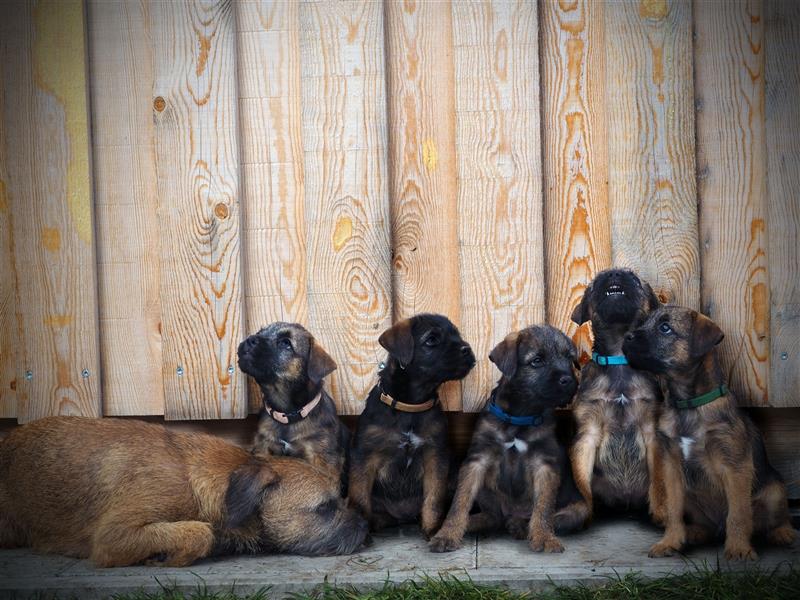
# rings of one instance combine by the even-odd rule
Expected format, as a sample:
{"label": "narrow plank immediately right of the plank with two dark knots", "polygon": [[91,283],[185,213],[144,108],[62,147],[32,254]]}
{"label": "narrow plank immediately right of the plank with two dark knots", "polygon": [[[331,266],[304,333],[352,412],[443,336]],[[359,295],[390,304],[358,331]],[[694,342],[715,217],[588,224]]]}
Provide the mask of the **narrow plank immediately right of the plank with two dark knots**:
{"label": "narrow plank immediately right of the plank with two dark knots", "polygon": [[[247,333],[308,322],[299,4],[236,5]],[[261,393],[250,384],[250,410]]]}

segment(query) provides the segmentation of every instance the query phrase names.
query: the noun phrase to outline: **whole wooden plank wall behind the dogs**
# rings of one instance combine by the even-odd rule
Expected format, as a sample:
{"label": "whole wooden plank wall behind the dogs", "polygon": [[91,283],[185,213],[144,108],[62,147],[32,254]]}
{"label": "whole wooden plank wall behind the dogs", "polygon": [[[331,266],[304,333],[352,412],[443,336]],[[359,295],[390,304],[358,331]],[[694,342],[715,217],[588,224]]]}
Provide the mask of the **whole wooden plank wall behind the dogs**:
{"label": "whole wooden plank wall behind the dogs", "polygon": [[789,0],[4,2],[0,417],[245,417],[274,320],[357,414],[423,310],[477,411],[508,331],[588,355],[612,264],[722,324],[743,404],[800,406],[798,51]]}

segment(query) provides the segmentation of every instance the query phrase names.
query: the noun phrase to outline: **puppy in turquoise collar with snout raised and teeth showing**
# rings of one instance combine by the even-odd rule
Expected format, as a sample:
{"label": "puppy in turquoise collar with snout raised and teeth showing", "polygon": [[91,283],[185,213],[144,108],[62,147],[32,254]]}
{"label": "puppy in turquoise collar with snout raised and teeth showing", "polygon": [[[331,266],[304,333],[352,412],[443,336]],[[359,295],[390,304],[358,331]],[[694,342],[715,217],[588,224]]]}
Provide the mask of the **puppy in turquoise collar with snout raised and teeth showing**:
{"label": "puppy in turquoise collar with snout raised and teeth showing", "polygon": [[650,286],[627,269],[599,273],[586,288],[572,320],[592,322],[592,362],[581,370],[573,402],[577,435],[570,452],[581,495],[617,510],[649,507],[664,520],[656,423],[661,394],[652,374],[628,366],[625,333],[660,306]]}

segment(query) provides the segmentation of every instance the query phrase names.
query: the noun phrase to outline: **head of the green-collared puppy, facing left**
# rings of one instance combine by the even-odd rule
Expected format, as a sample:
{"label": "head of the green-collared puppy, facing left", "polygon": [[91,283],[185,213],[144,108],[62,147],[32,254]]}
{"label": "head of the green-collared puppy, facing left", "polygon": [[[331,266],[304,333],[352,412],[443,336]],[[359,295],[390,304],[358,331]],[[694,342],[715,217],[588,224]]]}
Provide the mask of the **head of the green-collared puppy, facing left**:
{"label": "head of the green-collared puppy, facing left", "polygon": [[635,369],[684,371],[701,362],[723,337],[705,315],[682,306],[662,306],[625,335],[622,351]]}

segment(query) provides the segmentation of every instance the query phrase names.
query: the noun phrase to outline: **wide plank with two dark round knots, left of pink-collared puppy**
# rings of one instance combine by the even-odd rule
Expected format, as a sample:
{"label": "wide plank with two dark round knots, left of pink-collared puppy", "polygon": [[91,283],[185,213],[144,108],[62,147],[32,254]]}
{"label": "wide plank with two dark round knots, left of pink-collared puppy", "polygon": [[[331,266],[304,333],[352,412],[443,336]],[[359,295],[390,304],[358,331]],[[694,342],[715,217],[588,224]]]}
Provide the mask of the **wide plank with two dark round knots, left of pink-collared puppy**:
{"label": "wide plank with two dark round knots, left of pink-collared puppy", "polygon": [[161,201],[164,414],[242,418],[236,23],[234,5],[150,5]]}

